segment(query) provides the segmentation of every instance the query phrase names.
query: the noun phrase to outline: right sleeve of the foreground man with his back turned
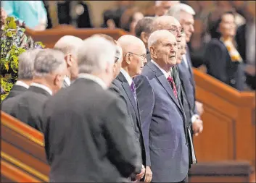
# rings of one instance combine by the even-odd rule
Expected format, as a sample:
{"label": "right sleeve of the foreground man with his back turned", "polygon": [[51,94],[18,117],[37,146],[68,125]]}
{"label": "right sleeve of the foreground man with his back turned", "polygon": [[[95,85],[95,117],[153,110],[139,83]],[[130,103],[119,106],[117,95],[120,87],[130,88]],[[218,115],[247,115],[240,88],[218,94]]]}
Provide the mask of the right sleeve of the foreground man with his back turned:
{"label": "right sleeve of the foreground man with his back turned", "polygon": [[[125,110],[126,109],[126,110]],[[141,154],[133,129],[128,124],[125,102],[116,98],[105,110],[104,137],[109,146],[110,161],[123,177],[141,171]]]}

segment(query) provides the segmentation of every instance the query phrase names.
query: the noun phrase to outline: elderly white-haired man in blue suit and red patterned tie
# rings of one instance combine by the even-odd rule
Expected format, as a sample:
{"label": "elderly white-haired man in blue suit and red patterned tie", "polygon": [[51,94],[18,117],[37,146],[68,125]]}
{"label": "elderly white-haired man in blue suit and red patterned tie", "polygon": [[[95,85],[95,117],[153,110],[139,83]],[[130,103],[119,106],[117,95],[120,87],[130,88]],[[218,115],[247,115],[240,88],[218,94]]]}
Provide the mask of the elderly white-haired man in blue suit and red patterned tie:
{"label": "elderly white-haired man in blue suit and red patterned tie", "polygon": [[152,177],[146,172],[146,179],[186,182],[189,170],[186,117],[170,75],[177,61],[176,37],[168,30],[157,30],[149,36],[148,46],[152,60],[134,79],[144,116],[146,166],[152,170]]}

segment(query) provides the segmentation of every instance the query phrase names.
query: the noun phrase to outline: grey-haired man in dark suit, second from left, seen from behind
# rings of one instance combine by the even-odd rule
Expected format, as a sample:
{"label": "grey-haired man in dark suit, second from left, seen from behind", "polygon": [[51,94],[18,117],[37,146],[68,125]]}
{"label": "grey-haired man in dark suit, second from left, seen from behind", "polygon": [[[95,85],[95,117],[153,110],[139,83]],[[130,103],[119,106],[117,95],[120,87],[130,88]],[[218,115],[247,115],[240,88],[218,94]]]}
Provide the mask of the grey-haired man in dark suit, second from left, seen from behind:
{"label": "grey-haired man in dark suit, second from left, seen from behind", "polygon": [[[31,127],[43,132],[41,118],[45,101],[57,93],[67,73],[67,64],[61,51],[45,49],[36,55],[33,82],[24,93],[9,98],[1,110]],[[9,103],[12,103],[11,107]]]}

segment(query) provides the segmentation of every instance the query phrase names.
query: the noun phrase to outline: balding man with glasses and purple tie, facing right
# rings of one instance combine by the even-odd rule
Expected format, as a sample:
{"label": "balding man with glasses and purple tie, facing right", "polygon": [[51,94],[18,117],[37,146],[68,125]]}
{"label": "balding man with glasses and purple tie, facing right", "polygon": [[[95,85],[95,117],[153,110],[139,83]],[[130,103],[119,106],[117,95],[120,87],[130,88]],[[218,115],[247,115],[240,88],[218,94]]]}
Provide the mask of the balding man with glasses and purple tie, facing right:
{"label": "balding man with glasses and purple tie, facing right", "polygon": [[141,172],[136,172],[136,177],[133,180],[140,180],[143,178],[146,163],[146,153],[144,148],[144,137],[141,130],[141,116],[139,114],[139,105],[137,102],[136,88],[133,82],[133,77],[141,74],[141,70],[146,64],[146,48],[144,43],[133,35],[123,35],[117,43],[123,50],[123,61],[119,75],[112,82],[125,97],[128,106],[128,114],[132,119],[134,135],[137,142],[141,145],[141,162],[143,164]]}

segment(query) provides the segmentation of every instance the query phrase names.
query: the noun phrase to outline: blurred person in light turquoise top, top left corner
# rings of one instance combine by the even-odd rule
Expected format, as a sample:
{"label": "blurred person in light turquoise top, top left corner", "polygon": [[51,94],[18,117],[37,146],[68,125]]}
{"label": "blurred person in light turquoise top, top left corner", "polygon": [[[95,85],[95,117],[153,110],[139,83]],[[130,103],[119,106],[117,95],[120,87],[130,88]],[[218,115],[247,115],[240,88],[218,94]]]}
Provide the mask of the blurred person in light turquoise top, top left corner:
{"label": "blurred person in light turquoise top, top left corner", "polygon": [[33,30],[45,30],[47,12],[43,1],[1,1],[9,17],[25,22]]}

